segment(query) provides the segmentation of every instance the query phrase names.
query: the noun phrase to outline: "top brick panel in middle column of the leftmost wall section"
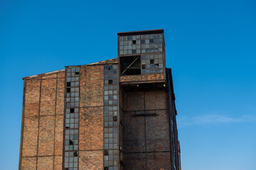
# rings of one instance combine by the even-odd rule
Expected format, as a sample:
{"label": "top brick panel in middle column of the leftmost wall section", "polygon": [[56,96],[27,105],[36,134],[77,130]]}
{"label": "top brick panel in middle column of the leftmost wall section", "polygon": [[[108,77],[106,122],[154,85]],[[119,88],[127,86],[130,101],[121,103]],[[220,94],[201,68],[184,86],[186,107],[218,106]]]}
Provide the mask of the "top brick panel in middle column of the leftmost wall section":
{"label": "top brick panel in middle column of the leftmost wall section", "polygon": [[40,115],[55,115],[56,79],[43,79]]}

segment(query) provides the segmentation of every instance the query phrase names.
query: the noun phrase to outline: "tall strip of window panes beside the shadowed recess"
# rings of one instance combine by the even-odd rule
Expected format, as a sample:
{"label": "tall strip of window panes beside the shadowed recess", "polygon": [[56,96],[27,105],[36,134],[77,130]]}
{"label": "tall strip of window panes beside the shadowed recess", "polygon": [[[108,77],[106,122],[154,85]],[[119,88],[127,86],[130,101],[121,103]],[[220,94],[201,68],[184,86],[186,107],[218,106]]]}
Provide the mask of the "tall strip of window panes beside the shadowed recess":
{"label": "tall strip of window panes beside the shadowed recess", "polygon": [[104,167],[108,170],[117,170],[117,65],[106,65],[104,71]]}

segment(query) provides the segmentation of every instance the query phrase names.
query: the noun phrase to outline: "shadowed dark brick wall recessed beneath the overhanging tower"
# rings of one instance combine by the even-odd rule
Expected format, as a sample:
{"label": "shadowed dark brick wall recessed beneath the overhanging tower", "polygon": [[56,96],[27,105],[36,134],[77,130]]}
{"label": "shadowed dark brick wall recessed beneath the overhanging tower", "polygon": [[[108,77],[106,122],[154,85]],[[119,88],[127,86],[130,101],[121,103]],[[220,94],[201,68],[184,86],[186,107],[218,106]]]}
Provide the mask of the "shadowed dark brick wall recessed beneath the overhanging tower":
{"label": "shadowed dark brick wall recessed beneath the overhanging tower", "polygon": [[124,92],[124,169],[171,169],[166,108],[165,90]]}

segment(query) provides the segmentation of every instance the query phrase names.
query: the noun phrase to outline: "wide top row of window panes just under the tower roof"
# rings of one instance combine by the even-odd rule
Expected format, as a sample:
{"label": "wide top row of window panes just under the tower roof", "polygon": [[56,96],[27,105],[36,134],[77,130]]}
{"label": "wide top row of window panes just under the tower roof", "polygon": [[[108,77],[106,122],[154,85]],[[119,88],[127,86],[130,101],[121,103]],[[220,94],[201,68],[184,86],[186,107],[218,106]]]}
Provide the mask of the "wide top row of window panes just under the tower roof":
{"label": "wide top row of window panes just under the tower roof", "polygon": [[119,55],[163,52],[161,34],[119,36]]}

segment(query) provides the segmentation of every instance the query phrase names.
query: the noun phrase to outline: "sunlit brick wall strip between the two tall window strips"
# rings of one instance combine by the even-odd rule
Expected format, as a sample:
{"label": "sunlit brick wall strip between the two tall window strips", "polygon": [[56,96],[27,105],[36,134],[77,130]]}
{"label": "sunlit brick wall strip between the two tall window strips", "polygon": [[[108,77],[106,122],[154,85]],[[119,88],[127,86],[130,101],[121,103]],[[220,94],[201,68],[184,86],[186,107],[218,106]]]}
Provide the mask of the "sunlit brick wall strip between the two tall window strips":
{"label": "sunlit brick wall strip between the two tall window strips", "polygon": [[102,65],[81,67],[79,169],[103,169]]}

